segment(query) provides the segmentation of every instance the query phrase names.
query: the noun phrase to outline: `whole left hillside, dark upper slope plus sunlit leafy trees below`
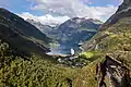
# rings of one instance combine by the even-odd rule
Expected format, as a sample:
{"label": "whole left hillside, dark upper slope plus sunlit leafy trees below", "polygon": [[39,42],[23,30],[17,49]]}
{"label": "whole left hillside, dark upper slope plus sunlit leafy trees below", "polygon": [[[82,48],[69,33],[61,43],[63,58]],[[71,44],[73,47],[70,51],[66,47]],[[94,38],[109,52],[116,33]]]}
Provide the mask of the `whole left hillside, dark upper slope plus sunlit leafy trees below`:
{"label": "whole left hillside, dark upper slope plus sunlit leafy trees below", "polygon": [[79,69],[46,55],[49,42],[35,26],[0,9],[0,87],[72,86]]}

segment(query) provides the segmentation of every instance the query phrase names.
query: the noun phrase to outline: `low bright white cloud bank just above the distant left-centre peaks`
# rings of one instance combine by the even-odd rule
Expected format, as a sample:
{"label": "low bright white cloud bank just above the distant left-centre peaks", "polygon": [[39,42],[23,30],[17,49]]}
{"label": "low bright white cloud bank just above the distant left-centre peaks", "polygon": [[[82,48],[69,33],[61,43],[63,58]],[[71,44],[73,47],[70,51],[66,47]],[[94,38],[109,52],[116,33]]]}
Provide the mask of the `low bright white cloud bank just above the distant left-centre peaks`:
{"label": "low bright white cloud bank just above the distant left-centre peaks", "polygon": [[31,18],[36,22],[40,22],[44,25],[52,25],[52,26],[57,24],[61,24],[70,18],[69,16],[52,16],[50,14],[46,14],[43,16],[35,16],[28,12],[23,12],[22,14],[17,14],[17,15],[20,15],[24,20]]}

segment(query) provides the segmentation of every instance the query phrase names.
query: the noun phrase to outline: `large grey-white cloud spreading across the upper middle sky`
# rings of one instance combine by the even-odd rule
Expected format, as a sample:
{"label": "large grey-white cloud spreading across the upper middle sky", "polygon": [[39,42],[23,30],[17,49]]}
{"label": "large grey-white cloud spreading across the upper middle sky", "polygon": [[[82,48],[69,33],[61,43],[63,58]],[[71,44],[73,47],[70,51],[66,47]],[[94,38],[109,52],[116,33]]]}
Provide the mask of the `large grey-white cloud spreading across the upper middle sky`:
{"label": "large grey-white cloud spreading across the upper middle sky", "polygon": [[91,0],[28,0],[34,3],[31,9],[44,11],[45,14],[60,16],[86,16],[90,18],[107,20],[117,10],[114,5],[88,7]]}

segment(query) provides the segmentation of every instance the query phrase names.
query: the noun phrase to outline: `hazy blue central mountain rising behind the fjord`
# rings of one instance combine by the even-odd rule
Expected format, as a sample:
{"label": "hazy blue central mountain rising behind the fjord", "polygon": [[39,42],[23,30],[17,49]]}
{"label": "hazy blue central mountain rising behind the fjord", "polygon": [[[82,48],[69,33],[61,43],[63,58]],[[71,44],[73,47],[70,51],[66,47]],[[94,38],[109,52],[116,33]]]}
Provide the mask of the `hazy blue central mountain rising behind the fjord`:
{"label": "hazy blue central mountain rising behind the fjord", "polygon": [[98,20],[74,17],[58,27],[57,40],[64,47],[78,46],[92,38],[103,23]]}

